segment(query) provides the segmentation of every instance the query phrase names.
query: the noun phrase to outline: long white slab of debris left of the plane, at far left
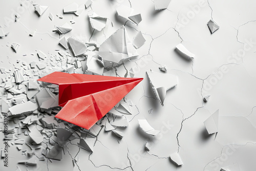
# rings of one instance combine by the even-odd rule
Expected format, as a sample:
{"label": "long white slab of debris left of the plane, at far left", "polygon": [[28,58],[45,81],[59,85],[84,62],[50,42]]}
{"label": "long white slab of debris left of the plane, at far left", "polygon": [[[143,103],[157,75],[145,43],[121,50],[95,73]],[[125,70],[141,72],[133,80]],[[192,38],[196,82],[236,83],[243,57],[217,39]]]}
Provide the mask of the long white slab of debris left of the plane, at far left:
{"label": "long white slab of debris left of the plane, at far left", "polygon": [[12,115],[18,115],[22,113],[27,112],[33,112],[38,108],[38,105],[36,103],[33,103],[32,101],[27,101],[22,104],[17,104],[9,108],[9,111]]}

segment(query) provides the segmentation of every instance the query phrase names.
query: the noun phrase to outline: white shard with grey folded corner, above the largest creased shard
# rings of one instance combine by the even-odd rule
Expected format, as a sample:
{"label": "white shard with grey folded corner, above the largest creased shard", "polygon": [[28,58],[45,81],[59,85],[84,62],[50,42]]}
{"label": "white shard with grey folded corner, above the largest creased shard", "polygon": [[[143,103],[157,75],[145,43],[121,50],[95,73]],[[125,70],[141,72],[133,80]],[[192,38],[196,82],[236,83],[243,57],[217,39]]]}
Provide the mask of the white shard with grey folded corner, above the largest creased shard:
{"label": "white shard with grey folded corner, above the largest creased shard", "polygon": [[138,25],[142,18],[140,14],[136,14],[134,12],[133,8],[124,6],[124,5],[120,5],[117,9],[116,12],[119,16],[129,20],[130,22],[132,22],[133,24]]}

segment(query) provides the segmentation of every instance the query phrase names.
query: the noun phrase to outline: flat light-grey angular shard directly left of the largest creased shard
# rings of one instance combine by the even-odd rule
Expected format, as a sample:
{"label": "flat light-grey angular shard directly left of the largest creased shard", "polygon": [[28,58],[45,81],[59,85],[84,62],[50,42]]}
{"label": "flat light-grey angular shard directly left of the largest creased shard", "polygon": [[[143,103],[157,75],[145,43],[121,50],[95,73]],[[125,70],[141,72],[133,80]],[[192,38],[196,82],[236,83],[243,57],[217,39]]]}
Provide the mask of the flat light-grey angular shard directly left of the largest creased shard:
{"label": "flat light-grey angular shard directly left of the largest creased shard", "polygon": [[78,40],[74,37],[68,38],[69,46],[75,56],[82,55],[86,52],[87,46],[86,43]]}

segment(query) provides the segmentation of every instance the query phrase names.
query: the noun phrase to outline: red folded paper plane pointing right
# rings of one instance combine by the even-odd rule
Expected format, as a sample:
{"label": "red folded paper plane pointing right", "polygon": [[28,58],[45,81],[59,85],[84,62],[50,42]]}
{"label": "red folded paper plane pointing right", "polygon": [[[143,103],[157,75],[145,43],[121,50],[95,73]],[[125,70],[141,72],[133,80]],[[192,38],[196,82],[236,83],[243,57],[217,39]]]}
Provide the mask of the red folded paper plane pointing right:
{"label": "red folded paper plane pointing right", "polygon": [[89,130],[142,79],[54,72],[38,81],[59,85],[56,118]]}

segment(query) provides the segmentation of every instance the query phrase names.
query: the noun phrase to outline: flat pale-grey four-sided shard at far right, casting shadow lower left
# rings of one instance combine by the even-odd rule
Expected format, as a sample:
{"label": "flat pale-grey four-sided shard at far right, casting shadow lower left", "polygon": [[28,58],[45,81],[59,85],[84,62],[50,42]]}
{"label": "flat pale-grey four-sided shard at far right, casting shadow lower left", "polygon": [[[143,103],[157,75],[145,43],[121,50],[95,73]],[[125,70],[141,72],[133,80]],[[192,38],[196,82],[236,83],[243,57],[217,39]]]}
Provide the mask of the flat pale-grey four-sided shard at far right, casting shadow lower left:
{"label": "flat pale-grey four-sided shard at far right, casting shadow lower left", "polygon": [[212,114],[208,119],[204,121],[204,125],[208,134],[218,133],[219,126],[219,110]]}

